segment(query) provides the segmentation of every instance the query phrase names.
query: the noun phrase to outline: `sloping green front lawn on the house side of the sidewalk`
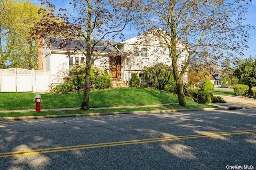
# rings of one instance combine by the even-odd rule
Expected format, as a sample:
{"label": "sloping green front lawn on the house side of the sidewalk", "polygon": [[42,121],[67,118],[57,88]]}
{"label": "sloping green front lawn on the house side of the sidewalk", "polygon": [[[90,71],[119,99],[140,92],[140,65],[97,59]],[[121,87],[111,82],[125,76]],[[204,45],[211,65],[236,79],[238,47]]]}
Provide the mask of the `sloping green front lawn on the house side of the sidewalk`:
{"label": "sloping green front lawn on the house side of the sidewalk", "polygon": [[[34,109],[35,96],[36,94],[34,93],[0,93],[0,110]],[[44,93],[40,94],[40,96],[42,97],[42,109],[80,107],[83,92],[68,94]],[[191,99],[186,100],[187,107],[197,108],[197,103],[194,103]],[[89,107],[154,105],[161,103],[178,103],[178,98],[171,93],[149,88],[96,90],[90,91]],[[204,107],[207,106],[205,105]]]}

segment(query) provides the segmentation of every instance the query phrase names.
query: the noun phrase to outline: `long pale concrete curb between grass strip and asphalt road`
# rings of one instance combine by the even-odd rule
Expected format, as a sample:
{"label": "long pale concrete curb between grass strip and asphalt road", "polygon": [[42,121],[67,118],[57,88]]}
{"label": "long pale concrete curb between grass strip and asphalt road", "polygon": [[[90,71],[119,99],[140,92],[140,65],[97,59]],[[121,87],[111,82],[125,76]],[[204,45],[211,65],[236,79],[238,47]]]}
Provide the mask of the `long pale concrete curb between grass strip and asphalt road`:
{"label": "long pale concrete curb between grass strip and asphalt road", "polygon": [[[234,108],[234,107],[232,107],[232,108]],[[239,107],[239,108],[251,109],[252,107]],[[229,110],[229,109],[230,109],[230,107],[218,107],[218,108],[203,108],[203,109],[173,109],[173,110],[155,110],[155,111],[85,113],[85,114],[70,114],[70,115],[1,117],[0,121],[13,121],[13,120],[25,120],[25,119],[44,119],[44,118],[58,118],[58,117],[83,117],[83,116],[102,116],[102,115],[142,114],[142,113],[168,113],[168,112],[182,112],[182,111],[211,111],[211,110]]]}

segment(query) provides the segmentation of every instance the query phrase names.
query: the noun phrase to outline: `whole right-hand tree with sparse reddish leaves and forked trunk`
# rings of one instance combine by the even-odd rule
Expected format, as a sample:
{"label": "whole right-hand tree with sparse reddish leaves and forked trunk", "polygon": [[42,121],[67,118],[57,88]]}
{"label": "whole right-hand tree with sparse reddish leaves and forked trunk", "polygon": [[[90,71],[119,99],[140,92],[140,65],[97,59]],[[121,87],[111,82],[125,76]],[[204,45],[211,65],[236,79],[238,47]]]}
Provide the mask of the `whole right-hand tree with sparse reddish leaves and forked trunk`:
{"label": "whole right-hand tree with sparse reddish leaves and forked trunk", "polygon": [[[182,77],[190,65],[199,57],[214,61],[229,54],[241,56],[247,48],[247,30],[244,25],[250,0],[148,0],[140,3],[144,13],[144,32],[151,28],[155,37],[163,40],[172,59],[174,79],[181,106],[186,105]],[[139,21],[138,21],[139,22]],[[144,24],[146,23],[146,24]],[[183,48],[178,49],[182,44]],[[202,51],[208,51],[202,55]],[[186,58],[179,65],[179,55],[186,52]]]}

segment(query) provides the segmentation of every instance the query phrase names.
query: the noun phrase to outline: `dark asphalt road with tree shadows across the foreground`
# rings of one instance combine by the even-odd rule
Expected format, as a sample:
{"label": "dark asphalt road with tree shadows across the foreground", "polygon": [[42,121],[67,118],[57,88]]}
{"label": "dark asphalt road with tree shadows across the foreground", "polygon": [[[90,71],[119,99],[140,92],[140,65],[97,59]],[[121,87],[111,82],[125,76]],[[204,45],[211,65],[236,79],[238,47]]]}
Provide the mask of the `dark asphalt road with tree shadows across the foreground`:
{"label": "dark asphalt road with tree shadows across the foreground", "polygon": [[0,121],[1,170],[256,169],[255,153],[256,109]]}

